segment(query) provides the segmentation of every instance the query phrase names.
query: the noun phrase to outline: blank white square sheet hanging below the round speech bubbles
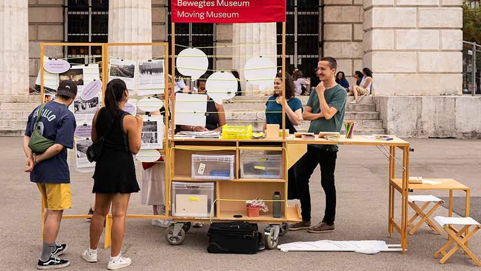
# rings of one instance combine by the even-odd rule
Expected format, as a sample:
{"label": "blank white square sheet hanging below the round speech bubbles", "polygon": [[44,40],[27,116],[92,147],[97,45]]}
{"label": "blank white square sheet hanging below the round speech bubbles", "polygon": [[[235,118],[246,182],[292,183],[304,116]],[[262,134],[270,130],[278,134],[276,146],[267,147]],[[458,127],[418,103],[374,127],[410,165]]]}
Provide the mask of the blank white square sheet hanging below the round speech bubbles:
{"label": "blank white square sheet hanging below the round speech bubbles", "polygon": [[205,126],[207,95],[176,93],[175,125]]}

